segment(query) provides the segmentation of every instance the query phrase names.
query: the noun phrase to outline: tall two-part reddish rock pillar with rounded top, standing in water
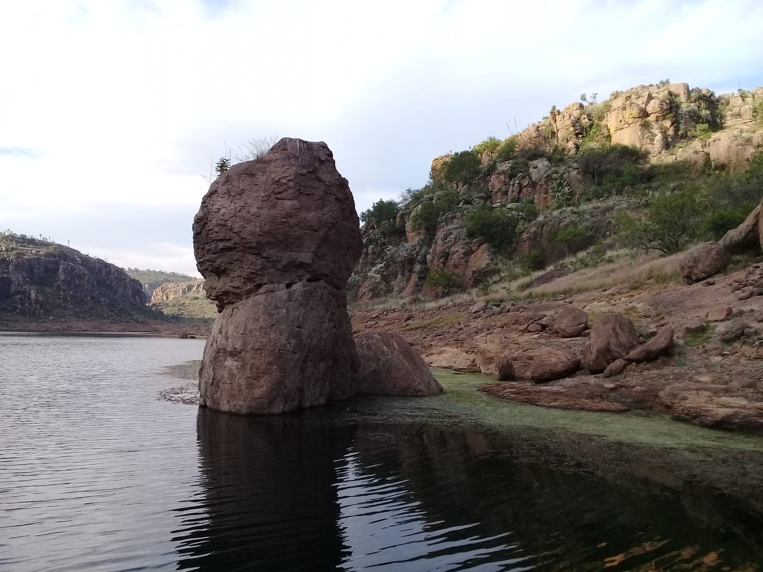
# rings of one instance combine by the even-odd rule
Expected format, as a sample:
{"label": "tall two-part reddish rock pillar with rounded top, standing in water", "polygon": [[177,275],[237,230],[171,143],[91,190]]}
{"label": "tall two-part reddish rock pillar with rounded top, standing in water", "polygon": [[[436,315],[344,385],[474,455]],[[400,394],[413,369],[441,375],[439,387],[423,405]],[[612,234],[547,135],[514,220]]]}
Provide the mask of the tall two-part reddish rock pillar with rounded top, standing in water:
{"label": "tall two-part reddish rock pillar with rounded top, standing in water", "polygon": [[220,312],[199,402],[282,413],[353,393],[359,360],[344,286],[362,249],[353,194],[325,143],[282,139],[211,185],[194,252]]}

